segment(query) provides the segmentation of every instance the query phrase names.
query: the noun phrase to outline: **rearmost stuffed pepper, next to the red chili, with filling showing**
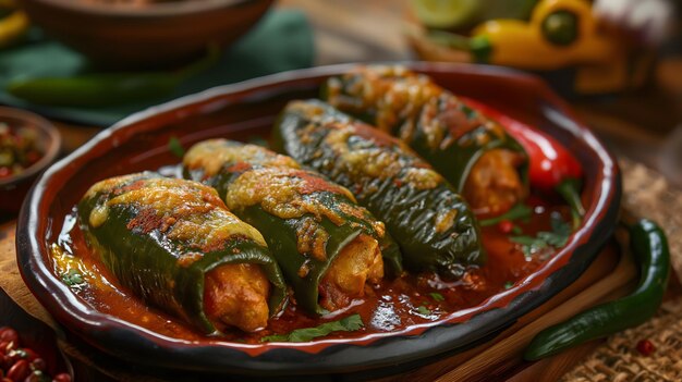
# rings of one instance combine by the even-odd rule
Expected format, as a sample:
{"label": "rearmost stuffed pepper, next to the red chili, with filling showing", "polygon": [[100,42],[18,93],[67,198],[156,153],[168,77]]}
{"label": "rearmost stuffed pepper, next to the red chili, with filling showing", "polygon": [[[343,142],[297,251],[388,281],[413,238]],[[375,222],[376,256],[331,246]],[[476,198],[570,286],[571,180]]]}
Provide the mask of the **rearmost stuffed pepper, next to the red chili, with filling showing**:
{"label": "rearmost stuffed pepper, next to the red chili, with filling showing", "polygon": [[406,143],[477,213],[499,214],[527,194],[522,146],[426,75],[401,66],[358,66],[330,78],[322,96]]}

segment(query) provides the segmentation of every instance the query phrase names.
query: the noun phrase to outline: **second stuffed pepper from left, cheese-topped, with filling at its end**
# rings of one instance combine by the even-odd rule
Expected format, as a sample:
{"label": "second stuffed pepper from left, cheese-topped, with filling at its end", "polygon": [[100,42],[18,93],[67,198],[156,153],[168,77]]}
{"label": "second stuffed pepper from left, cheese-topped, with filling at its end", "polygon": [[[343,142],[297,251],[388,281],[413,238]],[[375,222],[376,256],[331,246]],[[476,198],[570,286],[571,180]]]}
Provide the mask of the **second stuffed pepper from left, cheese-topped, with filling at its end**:
{"label": "second stuffed pepper from left, cheese-topped, with filling at its end", "polygon": [[184,157],[186,177],[215,187],[228,208],[265,236],[296,304],[338,310],[401,272],[400,250],[383,223],[326,177],[293,159],[224,139],[198,143]]}

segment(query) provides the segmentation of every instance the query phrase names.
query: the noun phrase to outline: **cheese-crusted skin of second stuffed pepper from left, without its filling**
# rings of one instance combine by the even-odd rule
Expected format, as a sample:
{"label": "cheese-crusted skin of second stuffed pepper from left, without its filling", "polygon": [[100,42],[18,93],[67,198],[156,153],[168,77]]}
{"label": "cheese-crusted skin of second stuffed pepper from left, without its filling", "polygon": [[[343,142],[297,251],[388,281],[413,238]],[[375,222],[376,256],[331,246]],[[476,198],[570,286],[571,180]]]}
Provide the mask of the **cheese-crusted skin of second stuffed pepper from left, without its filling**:
{"label": "cheese-crusted skin of second stuffed pepper from left, without its filling", "polygon": [[[385,231],[383,223],[366,209],[356,206],[346,189],[320,174],[301,170],[293,159],[255,145],[214,139],[195,145],[187,151],[183,162],[186,178],[214,187],[234,214],[264,234],[287,282],[293,287],[296,303],[308,312],[327,312],[318,304],[319,283],[341,249],[360,234],[367,234],[379,242],[390,274],[402,273],[400,249]],[[212,170],[208,167],[212,167]],[[296,195],[295,201],[287,204],[319,206],[320,212],[291,213],[285,210],[283,213],[288,215],[284,217],[264,208],[264,201],[247,204],[231,198],[229,194],[235,194],[235,184],[245,176],[254,176],[257,181],[252,188],[267,189],[268,197],[273,198],[278,189],[287,188],[295,180],[303,180],[308,192]],[[349,213],[349,210],[355,213]],[[308,226],[308,230],[304,226]],[[299,248],[299,244],[312,233],[327,235],[321,256],[316,256],[314,250],[301,252]]]}

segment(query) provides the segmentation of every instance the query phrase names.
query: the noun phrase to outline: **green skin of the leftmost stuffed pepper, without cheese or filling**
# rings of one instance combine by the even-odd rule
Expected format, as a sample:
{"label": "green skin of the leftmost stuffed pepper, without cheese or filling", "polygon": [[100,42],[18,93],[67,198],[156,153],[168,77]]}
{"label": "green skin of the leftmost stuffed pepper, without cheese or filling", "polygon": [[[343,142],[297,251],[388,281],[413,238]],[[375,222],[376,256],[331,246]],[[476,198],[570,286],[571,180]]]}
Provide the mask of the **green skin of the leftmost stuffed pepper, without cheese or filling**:
{"label": "green skin of the leftmost stuffed pepper, without cheese or filling", "polygon": [[[86,194],[77,206],[80,225],[88,245],[119,282],[145,301],[182,318],[206,334],[216,335],[219,332],[204,311],[206,273],[222,264],[255,263],[260,266],[272,285],[268,301],[270,315],[281,311],[287,297],[281,271],[265,244],[248,235],[232,235],[217,243],[214,249],[204,251],[192,241],[171,239],[167,235],[170,230],[136,226],[135,219],[143,215],[145,208],[138,202],[109,205],[106,220],[93,224],[93,211],[107,206],[126,187],[148,187],[146,182],[157,178],[162,177],[146,172],[105,181],[114,184]],[[184,187],[187,184],[204,187],[184,180],[169,181]],[[186,255],[199,257],[191,263],[182,263],[181,259]]]}

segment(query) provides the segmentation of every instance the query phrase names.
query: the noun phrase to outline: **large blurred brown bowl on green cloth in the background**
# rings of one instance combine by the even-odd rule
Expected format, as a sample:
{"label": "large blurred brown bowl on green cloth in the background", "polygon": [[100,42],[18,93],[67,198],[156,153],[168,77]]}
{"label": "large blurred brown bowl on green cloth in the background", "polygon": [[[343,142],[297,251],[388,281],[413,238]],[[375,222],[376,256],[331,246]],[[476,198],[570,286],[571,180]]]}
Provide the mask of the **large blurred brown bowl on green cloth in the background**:
{"label": "large blurred brown bowl on green cloth in the background", "polygon": [[99,66],[157,67],[227,45],[272,0],[188,0],[125,4],[108,0],[20,0],[31,20]]}

